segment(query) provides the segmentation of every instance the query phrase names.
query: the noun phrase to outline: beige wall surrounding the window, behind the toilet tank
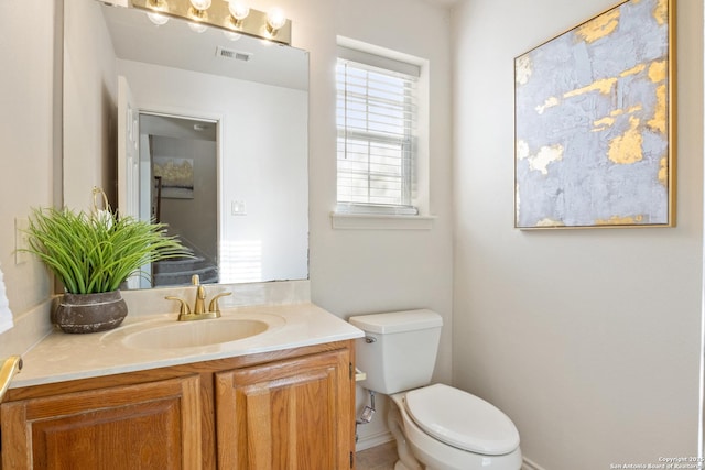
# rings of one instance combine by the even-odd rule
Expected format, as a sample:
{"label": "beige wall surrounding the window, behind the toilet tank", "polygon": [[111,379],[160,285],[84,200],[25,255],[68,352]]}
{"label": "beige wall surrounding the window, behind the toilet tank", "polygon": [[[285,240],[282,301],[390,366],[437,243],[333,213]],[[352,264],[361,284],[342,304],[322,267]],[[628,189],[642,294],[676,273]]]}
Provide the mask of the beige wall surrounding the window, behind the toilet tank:
{"label": "beige wall surrounding the window, behind the toilet tank", "polygon": [[[452,200],[451,43],[444,8],[423,0],[286,0],[294,45],[311,52],[310,229],[312,298],[329,311],[351,315],[432,308],[445,321],[435,379],[451,382]],[[336,205],[336,35],[430,62],[431,230],[334,230]],[[358,403],[367,401],[358,390]],[[386,438],[384,400],[361,441]]]}

